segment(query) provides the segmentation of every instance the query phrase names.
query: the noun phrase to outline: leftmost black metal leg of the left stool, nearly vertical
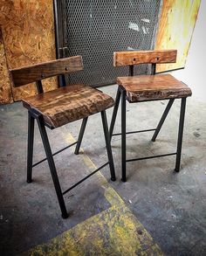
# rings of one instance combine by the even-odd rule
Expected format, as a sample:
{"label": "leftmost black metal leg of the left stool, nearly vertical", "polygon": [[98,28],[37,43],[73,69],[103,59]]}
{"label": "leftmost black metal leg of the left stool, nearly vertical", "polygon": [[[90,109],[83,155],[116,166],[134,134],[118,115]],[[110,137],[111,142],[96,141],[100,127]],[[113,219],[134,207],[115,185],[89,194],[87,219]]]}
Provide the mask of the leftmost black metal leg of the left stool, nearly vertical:
{"label": "leftmost black metal leg of the left stool, nearly vertical", "polygon": [[32,159],[34,142],[34,118],[28,111],[27,183],[32,182]]}

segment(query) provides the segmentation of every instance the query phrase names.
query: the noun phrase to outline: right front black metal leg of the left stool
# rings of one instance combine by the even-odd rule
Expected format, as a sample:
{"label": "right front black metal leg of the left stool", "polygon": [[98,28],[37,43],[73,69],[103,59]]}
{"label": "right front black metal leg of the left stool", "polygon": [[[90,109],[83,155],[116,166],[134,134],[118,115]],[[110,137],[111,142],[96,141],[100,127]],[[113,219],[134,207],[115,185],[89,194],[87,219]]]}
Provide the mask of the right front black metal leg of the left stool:
{"label": "right front black metal leg of the left stool", "polygon": [[111,144],[110,144],[109,131],[108,131],[108,126],[107,126],[107,121],[106,121],[106,111],[105,110],[101,112],[101,120],[102,120],[103,129],[104,129],[106,152],[107,152],[108,161],[109,161],[111,180],[114,182],[116,180],[116,176],[115,176],[115,171],[114,171],[114,166],[113,166],[113,153],[112,153]]}

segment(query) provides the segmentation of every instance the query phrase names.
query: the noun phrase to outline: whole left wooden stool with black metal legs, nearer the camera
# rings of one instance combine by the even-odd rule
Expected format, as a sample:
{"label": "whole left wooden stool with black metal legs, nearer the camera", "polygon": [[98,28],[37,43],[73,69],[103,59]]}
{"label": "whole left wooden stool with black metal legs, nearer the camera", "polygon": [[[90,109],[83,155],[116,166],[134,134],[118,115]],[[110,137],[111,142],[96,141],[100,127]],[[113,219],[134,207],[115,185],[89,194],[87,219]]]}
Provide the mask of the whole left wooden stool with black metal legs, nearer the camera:
{"label": "whole left wooden stool with black metal legs, nearer the camera", "polygon": [[[68,217],[63,196],[65,193],[76,187],[79,183],[82,183],[89,176],[92,176],[98,170],[101,170],[106,166],[106,164],[109,164],[112,181],[115,181],[113,155],[106,121],[106,109],[113,107],[113,98],[97,89],[84,85],[64,86],[46,93],[43,91],[41,80],[62,74],[64,74],[63,78],[65,80],[66,73],[72,73],[82,69],[83,65],[81,57],[75,56],[10,70],[14,86],[24,86],[35,81],[38,89],[38,95],[31,96],[23,100],[24,107],[28,109],[27,182],[31,183],[32,181],[32,168],[47,160],[51,170],[52,180],[57,193],[58,203],[63,218]],[[74,144],[77,144],[75,154],[79,154],[79,148],[86,128],[88,116],[99,112],[101,113],[104,129],[108,162],[100,166],[100,168],[97,170],[94,170],[90,175],[81,179],[78,183],[72,185],[72,187],[68,190],[62,192],[58,181],[58,174],[53,156],[65,149],[72,147]],[[52,154],[45,127],[54,129],[79,119],[83,119],[83,121],[80,128],[78,141]],[[35,120],[38,122],[38,128],[44,144],[46,158],[38,163],[32,164]]]}

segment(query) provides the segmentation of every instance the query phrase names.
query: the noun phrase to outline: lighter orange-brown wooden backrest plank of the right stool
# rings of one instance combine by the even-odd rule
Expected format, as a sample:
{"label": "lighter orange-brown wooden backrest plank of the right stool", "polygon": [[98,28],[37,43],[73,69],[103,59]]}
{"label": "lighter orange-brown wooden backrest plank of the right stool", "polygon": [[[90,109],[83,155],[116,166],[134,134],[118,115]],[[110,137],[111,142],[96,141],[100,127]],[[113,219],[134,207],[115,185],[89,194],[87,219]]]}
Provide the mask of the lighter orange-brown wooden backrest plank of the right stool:
{"label": "lighter orange-brown wooden backrest plank of the right stool", "polygon": [[130,66],[147,63],[172,63],[176,50],[113,52],[113,66]]}

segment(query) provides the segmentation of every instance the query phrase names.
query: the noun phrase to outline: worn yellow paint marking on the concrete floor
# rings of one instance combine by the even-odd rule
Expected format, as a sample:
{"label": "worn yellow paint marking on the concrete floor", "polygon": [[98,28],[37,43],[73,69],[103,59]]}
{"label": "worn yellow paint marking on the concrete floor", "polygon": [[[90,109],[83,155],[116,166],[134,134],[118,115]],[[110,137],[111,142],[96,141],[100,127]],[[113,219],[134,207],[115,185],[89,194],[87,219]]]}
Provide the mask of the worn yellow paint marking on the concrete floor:
{"label": "worn yellow paint marking on the concrete floor", "polygon": [[[67,142],[73,140],[72,135],[66,138]],[[83,149],[81,152],[80,157],[86,166],[96,169]],[[111,207],[24,255],[163,255],[118,193],[105,182],[100,172],[98,175],[102,178],[101,187]]]}

